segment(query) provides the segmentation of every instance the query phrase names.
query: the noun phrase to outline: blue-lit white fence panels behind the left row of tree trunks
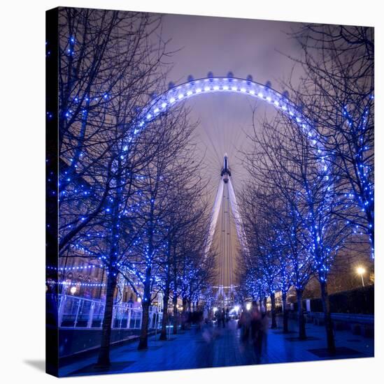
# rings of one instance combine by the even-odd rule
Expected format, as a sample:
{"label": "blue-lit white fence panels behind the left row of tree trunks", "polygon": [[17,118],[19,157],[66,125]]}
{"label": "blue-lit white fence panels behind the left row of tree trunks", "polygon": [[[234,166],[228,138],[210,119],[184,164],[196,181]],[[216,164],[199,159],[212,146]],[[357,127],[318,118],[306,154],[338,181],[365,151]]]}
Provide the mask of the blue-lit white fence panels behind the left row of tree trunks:
{"label": "blue-lit white fence panels behind the left row of tree trunks", "polygon": [[[103,326],[105,302],[71,295],[58,295],[58,325],[65,328],[101,328]],[[113,306],[112,328],[138,330],[141,328],[143,311],[131,303]],[[159,329],[162,312],[150,307],[149,329]]]}

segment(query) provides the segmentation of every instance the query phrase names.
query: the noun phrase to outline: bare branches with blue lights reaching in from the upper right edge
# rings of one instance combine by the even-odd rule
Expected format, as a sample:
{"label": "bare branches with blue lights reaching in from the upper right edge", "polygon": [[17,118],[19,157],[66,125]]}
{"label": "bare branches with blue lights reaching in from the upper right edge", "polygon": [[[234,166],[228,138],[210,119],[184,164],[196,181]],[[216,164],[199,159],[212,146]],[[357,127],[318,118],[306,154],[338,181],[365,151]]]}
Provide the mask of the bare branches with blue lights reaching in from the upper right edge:
{"label": "bare branches with blue lights reaching in from the upper right edge", "polygon": [[306,72],[294,98],[339,173],[343,219],[368,235],[374,256],[374,29],[307,24],[292,34]]}

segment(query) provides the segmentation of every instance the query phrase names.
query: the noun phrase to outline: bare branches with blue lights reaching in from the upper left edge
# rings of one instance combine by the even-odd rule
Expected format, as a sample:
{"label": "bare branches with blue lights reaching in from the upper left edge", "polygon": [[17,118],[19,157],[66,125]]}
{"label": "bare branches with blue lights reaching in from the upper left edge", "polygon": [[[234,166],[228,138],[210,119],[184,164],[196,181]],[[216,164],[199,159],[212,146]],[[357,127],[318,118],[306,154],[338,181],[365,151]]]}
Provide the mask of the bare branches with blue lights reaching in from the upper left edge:
{"label": "bare branches with blue lights reaching in from the upper left edge", "polygon": [[134,131],[136,106],[162,84],[165,45],[150,41],[160,21],[145,13],[59,12],[60,253],[105,208],[113,156]]}

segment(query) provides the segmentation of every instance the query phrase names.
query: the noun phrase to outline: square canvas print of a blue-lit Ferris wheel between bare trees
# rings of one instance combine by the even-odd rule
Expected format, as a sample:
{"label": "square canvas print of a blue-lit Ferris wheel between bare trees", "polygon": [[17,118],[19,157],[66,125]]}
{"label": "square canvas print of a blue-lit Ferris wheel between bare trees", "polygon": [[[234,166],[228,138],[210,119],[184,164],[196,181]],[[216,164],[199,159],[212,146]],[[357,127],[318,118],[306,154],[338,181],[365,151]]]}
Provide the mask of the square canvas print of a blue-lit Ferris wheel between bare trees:
{"label": "square canvas print of a blue-lit Ferris wheel between bare trees", "polygon": [[[236,54],[244,36],[222,62],[217,42],[214,61],[190,59],[190,43],[171,43],[180,32],[168,15],[60,8],[52,17],[59,36],[47,39],[47,63],[59,63],[59,100],[47,122],[53,132],[58,121],[59,137],[46,158],[46,300],[48,340],[59,345],[48,343],[47,360],[62,364],[48,371],[372,356],[369,339],[334,328],[374,333],[374,30],[292,24],[279,35],[294,41],[280,66]],[[251,44],[267,57],[279,46]],[[215,74],[187,75],[198,63]],[[324,327],[307,324],[313,316]],[[191,322],[204,326],[184,330]]]}

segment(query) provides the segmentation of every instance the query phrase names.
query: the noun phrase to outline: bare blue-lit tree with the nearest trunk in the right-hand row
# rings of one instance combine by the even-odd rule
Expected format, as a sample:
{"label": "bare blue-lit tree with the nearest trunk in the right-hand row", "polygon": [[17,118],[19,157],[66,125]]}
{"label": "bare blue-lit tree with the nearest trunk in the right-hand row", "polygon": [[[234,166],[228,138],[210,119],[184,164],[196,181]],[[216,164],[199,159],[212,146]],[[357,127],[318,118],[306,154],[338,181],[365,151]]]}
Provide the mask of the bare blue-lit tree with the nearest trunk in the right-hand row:
{"label": "bare blue-lit tree with the nearest trunk in the right-hand row", "polygon": [[[340,214],[348,206],[340,204],[336,193],[339,173],[332,162],[325,160],[315,138],[288,117],[278,116],[272,124],[264,121],[262,131],[255,130],[253,140],[255,152],[248,156],[248,166],[256,170],[254,174],[260,184],[274,189],[293,209],[299,223],[294,228],[295,241],[301,243],[299,250],[302,250],[297,256],[300,254],[301,260],[311,258],[313,272],[320,282],[327,345],[334,351],[327,276],[334,257],[350,235],[350,227]],[[292,261],[295,260],[296,256]],[[308,281],[308,265],[304,265],[295,281],[299,305],[301,283]],[[305,337],[303,332],[301,337]]]}

